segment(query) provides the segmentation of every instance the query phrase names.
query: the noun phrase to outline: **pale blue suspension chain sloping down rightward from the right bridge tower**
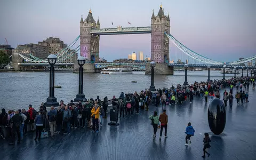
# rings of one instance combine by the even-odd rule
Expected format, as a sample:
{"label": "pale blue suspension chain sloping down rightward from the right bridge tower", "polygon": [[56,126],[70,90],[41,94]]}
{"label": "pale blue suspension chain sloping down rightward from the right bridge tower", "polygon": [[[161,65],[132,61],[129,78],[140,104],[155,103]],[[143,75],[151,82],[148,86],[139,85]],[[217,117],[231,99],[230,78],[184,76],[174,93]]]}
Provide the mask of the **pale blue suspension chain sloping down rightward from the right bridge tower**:
{"label": "pale blue suspension chain sloping down rightward from the right bridge tower", "polygon": [[194,58],[195,60],[212,64],[212,65],[222,65],[222,62],[214,61],[209,58],[203,57],[202,55],[190,50],[188,47],[180,43],[177,39],[175,39],[171,34],[165,33],[165,35],[172,41],[172,43],[178,47],[183,53],[189,55],[189,57]]}

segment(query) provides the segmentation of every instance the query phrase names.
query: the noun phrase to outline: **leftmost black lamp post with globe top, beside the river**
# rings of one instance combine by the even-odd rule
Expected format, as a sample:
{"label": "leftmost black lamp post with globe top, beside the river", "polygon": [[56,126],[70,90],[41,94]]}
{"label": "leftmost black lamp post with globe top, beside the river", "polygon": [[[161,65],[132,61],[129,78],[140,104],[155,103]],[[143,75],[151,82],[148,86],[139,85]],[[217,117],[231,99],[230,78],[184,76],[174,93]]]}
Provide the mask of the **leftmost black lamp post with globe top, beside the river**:
{"label": "leftmost black lamp post with globe top, beside the river", "polygon": [[46,99],[44,103],[45,107],[51,106],[59,106],[59,102],[57,102],[57,98],[54,97],[54,65],[57,61],[57,57],[55,54],[50,54],[48,57],[48,62],[50,64],[50,86],[49,86],[49,97]]}

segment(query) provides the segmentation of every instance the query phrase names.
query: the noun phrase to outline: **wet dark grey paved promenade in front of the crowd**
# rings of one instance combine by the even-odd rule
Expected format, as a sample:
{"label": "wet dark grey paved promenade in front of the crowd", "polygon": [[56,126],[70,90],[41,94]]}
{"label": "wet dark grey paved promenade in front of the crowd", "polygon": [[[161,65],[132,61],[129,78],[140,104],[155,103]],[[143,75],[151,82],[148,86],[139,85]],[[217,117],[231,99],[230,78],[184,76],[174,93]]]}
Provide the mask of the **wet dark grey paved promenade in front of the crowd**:
{"label": "wet dark grey paved promenade in front of the crowd", "polygon": [[[236,91],[236,89],[234,89]],[[205,159],[256,159],[256,91],[249,90],[249,103],[233,108],[227,107],[225,130],[214,135],[209,129],[207,109],[210,102],[195,97],[193,103],[166,107],[169,123],[168,138],[152,138],[153,127],[148,116],[149,111],[140,111],[139,115],[119,119],[119,126],[109,126],[109,117],[103,120],[100,133],[91,133],[88,129],[76,129],[70,135],[57,135],[55,138],[34,141],[29,134],[20,145],[8,146],[0,141],[0,159],[203,159],[204,132],[210,134],[211,156]],[[221,91],[221,98],[223,91]],[[158,108],[162,112],[162,107]],[[195,135],[191,145],[185,146],[185,129],[191,122]]]}

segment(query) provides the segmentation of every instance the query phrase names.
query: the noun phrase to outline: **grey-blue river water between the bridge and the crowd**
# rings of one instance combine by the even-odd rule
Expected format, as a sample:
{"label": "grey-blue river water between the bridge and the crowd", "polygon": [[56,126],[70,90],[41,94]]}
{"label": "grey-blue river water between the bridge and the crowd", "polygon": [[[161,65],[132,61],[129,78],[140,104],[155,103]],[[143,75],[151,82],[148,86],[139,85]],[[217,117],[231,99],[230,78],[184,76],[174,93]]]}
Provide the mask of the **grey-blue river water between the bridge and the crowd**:
{"label": "grey-blue river water between the bridge and the crowd", "polygon": [[[49,73],[48,72],[14,72],[0,73],[0,109],[21,109],[33,105],[36,109],[41,102],[45,102],[49,96]],[[221,79],[220,71],[211,71],[211,79]],[[232,75],[226,75],[231,77]],[[189,71],[188,83],[206,81],[207,71]],[[174,75],[155,75],[154,85],[156,88],[171,87],[183,84],[184,71],[174,71]],[[137,83],[131,83],[137,81]],[[101,75],[84,74],[83,92],[85,97],[100,99],[107,96],[109,99],[123,91],[125,93],[140,92],[148,89],[151,76],[145,72],[133,72],[131,75]],[[57,101],[63,100],[68,103],[74,100],[78,93],[78,74],[55,73],[55,85],[61,85],[61,89],[55,89]]]}

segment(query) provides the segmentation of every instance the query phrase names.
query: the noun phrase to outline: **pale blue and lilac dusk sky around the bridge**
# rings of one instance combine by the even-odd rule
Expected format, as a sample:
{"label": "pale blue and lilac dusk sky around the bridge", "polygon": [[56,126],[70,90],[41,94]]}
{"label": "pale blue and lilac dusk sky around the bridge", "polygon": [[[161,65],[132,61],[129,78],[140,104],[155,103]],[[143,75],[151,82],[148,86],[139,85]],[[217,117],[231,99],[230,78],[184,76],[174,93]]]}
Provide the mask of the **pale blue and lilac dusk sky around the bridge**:
{"label": "pale blue and lilac dusk sky around the bridge", "polygon": [[[116,12],[109,12],[118,1],[110,4],[103,1],[101,3],[77,1],[81,4],[77,9],[69,6],[73,3],[61,1],[69,3],[61,3],[60,10],[56,12],[58,1],[49,1],[51,6],[47,5],[47,2],[0,2],[0,9],[5,13],[0,15],[1,20],[4,21],[0,30],[0,44],[5,44],[4,38],[6,38],[15,48],[17,44],[37,43],[50,36],[60,37],[64,43],[70,44],[79,35],[81,14],[85,18],[90,7],[94,19],[98,19],[99,16],[101,28],[113,28],[119,25],[150,26],[152,9],[156,14],[160,5],[155,1],[147,4],[136,1],[138,5],[130,3],[120,5],[115,7]],[[162,1],[165,14],[167,12],[170,14],[171,34],[191,50],[217,61],[234,61],[241,55],[245,58],[255,55],[256,21],[253,18],[256,13],[253,9],[255,4],[256,1],[244,3],[238,0],[186,1],[186,3]],[[84,7],[85,5],[88,7]],[[48,12],[45,12],[46,8]],[[131,9],[134,11],[131,12]],[[237,33],[237,30],[240,32]],[[127,53],[133,50],[142,50],[145,57],[150,57],[150,34],[111,35],[100,38],[100,57],[105,57],[108,61],[127,57]],[[174,45],[170,43],[170,60],[181,59],[180,53],[181,51],[174,49]]]}

